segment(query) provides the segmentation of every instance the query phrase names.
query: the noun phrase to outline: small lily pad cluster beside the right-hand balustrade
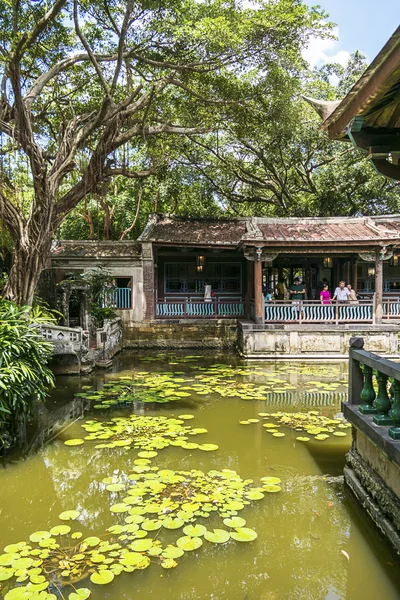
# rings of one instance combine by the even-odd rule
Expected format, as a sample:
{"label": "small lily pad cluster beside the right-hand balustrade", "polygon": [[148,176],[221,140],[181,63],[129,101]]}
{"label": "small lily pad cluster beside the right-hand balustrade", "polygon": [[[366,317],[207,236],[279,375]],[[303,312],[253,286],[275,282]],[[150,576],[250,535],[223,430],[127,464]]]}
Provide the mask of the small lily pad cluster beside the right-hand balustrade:
{"label": "small lily pad cluster beside the right-hand balustrade", "polygon": [[[313,436],[315,440],[324,441],[332,434],[336,437],[345,437],[346,429],[351,429],[351,424],[347,423],[343,417],[327,417],[322,415],[317,410],[308,412],[274,412],[274,413],[258,413],[261,419],[251,418],[239,421],[241,425],[250,425],[252,423],[260,423],[266,428],[267,432],[274,437],[285,437],[285,433],[280,431],[281,426],[289,427],[294,431],[305,432]],[[270,421],[273,419],[274,422]],[[299,442],[309,442],[310,437],[298,436]]]}

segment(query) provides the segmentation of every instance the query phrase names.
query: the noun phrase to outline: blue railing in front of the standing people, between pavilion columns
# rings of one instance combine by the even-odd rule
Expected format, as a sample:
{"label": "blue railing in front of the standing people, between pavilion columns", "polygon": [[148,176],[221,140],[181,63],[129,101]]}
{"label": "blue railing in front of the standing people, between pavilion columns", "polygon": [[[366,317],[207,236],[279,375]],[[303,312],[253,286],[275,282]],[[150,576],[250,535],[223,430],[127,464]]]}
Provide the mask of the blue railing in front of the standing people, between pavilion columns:
{"label": "blue railing in front of the standing people, between pavilion columns", "polygon": [[357,304],[321,304],[317,300],[295,302],[266,302],[266,323],[372,323],[372,301]]}

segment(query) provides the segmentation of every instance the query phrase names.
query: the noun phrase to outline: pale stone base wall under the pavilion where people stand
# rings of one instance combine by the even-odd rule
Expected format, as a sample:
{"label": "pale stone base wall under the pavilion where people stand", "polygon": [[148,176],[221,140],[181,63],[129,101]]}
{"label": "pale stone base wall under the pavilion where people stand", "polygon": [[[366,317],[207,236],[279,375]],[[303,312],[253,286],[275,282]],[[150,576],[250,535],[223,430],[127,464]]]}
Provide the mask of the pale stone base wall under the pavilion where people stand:
{"label": "pale stone base wall under the pavilion where people stand", "polygon": [[396,354],[398,328],[393,325],[256,325],[240,321],[239,349],[247,358],[272,355],[348,356],[353,336],[363,337],[366,346],[380,354]]}

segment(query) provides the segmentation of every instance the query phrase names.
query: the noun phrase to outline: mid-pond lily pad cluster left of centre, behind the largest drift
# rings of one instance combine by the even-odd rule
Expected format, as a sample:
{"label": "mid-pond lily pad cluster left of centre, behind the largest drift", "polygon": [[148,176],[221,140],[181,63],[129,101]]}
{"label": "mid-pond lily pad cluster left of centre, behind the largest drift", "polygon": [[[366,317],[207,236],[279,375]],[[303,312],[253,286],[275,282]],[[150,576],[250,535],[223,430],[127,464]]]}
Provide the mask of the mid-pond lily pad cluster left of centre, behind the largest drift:
{"label": "mid-pond lily pad cluster left of centre, behind the largest drift", "polygon": [[217,450],[216,444],[197,444],[188,441],[188,436],[194,437],[207,433],[203,427],[184,425],[193,415],[179,415],[177,419],[163,416],[129,415],[114,417],[110,421],[86,421],[82,427],[87,434],[82,438],[66,440],[67,446],[79,446],[85,442],[96,442],[95,448],[135,448],[140,449],[139,457],[153,458],[157,451],[167,446],[179,446],[186,450]]}

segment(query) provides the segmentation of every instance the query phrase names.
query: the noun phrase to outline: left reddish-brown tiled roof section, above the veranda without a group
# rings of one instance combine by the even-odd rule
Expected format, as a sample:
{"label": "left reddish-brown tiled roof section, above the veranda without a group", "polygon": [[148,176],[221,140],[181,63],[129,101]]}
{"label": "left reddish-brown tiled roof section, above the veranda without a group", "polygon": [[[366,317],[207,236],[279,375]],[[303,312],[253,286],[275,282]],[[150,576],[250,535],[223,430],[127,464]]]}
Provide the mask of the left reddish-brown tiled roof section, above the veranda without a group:
{"label": "left reddish-brown tiled roof section, above the veranda without a group", "polygon": [[171,245],[237,246],[246,233],[244,219],[152,217],[139,241]]}

